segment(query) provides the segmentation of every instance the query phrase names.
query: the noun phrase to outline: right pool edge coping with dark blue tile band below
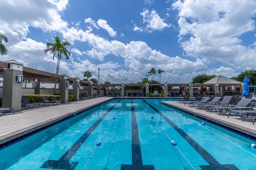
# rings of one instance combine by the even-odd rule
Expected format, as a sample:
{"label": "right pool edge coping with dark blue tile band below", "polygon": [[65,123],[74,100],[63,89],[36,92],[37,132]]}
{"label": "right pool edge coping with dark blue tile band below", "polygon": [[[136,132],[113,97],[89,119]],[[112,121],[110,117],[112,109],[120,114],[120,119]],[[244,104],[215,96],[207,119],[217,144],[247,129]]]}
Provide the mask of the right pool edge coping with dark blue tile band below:
{"label": "right pool edge coping with dark blue tile band below", "polygon": [[[240,126],[240,125],[237,125],[237,124],[234,124],[234,123],[231,123],[231,122],[227,122],[227,121],[223,121],[219,118],[215,118],[215,117],[207,117],[205,116],[204,114],[202,113],[199,113],[199,112],[194,112],[194,111],[191,111],[190,109],[187,109],[187,108],[184,108],[184,107],[180,107],[180,106],[177,106],[177,105],[173,105],[171,104],[170,102],[168,101],[161,101],[162,104],[165,104],[167,106],[171,106],[175,109],[178,109],[180,111],[183,111],[183,112],[186,112],[192,116],[195,116],[195,117],[198,117],[198,118],[202,118],[203,120],[206,120],[206,121],[209,121],[209,122],[213,122],[217,125],[220,125],[220,126],[224,126],[228,129],[232,129],[232,130],[235,130],[238,131],[238,134],[245,134],[243,136],[251,139],[251,138],[254,138],[253,140],[256,139],[256,131],[255,130],[252,130],[252,129],[249,129],[249,128],[245,128],[244,126]],[[240,133],[239,133],[240,132]],[[249,135],[249,137],[248,137]]]}

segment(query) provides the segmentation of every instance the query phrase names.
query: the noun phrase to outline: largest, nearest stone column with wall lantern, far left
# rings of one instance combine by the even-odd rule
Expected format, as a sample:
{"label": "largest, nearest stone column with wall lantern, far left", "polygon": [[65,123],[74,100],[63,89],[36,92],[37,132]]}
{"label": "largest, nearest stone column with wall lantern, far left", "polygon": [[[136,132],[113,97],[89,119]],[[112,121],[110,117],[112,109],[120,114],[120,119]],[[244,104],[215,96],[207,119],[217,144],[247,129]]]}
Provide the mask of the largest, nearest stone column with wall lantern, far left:
{"label": "largest, nearest stone column with wall lantern, far left", "polygon": [[3,107],[21,111],[23,65],[15,60],[7,61],[3,71]]}

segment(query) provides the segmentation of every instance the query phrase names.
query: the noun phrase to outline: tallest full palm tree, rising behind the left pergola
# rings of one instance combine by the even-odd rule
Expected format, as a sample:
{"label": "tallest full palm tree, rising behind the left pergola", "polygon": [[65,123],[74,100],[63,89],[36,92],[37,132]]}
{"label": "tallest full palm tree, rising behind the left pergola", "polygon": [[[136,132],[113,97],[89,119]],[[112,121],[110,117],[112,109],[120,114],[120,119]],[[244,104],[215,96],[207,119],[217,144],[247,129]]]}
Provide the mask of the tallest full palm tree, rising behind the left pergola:
{"label": "tallest full palm tree, rising behind the left pergola", "polygon": [[[68,41],[61,41],[60,37],[53,37],[54,43],[46,43],[46,49],[44,50],[44,53],[47,54],[47,52],[53,53],[53,60],[54,57],[57,57],[57,68],[56,68],[56,74],[59,74],[59,68],[60,68],[60,60],[62,58],[62,54],[66,57],[66,60],[69,60],[69,56],[71,53],[67,49],[67,46],[70,46],[71,44]],[[53,95],[55,95],[56,90],[56,83],[54,84],[54,90]]]}

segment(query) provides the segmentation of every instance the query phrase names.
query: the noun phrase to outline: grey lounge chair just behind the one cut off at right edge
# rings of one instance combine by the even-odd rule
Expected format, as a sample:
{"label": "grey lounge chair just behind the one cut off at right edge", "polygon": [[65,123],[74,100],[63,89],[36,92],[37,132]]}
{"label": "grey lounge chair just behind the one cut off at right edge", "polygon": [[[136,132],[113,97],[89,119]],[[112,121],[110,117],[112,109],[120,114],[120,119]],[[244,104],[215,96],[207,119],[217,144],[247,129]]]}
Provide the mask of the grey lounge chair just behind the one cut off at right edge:
{"label": "grey lounge chair just behind the one cut off at right edge", "polygon": [[[252,99],[242,99],[238,102],[238,104],[236,106],[227,106],[227,107],[223,107],[223,106],[219,106],[219,107],[215,107],[214,109],[219,110],[220,113],[224,110],[224,111],[230,111],[230,110],[239,110],[239,109],[244,109],[244,110],[252,110],[252,107],[248,107],[250,105],[250,102],[252,101]],[[219,113],[219,115],[220,115]],[[229,112],[228,117],[231,116],[231,113]]]}

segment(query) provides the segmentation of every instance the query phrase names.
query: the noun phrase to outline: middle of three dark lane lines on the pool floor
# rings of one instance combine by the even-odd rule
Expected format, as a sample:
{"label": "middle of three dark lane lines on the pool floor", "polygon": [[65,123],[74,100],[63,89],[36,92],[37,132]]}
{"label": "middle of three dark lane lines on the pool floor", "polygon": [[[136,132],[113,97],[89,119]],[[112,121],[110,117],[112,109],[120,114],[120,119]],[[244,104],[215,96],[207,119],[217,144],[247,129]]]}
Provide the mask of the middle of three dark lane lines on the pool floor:
{"label": "middle of three dark lane lines on the pool floor", "polygon": [[121,165],[121,170],[155,170],[154,165],[143,165],[139,131],[137,126],[137,120],[135,115],[135,109],[133,101],[131,101],[132,111],[132,165]]}

